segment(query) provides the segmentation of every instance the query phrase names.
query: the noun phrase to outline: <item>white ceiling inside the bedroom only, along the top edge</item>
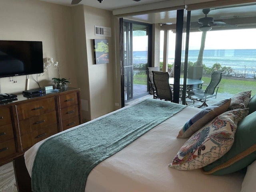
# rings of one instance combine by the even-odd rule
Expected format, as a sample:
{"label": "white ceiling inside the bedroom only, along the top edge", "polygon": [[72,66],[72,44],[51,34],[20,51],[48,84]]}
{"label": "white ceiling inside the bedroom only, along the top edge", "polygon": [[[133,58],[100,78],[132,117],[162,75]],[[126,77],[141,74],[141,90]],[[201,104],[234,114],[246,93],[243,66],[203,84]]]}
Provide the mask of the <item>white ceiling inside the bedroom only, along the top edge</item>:
{"label": "white ceiling inside the bedroom only, along the top edge", "polygon": [[[55,4],[66,5],[66,6],[76,6],[76,5],[71,5],[72,0],[41,0],[41,1],[51,2]],[[144,5],[144,4],[154,3],[154,2],[161,2],[161,1],[165,1],[165,0],[140,0],[139,2],[136,2],[133,0],[103,0],[102,3],[98,2],[98,0],[82,0],[79,3],[79,5],[84,4],[87,6],[92,6],[92,7],[112,11],[118,8]]]}

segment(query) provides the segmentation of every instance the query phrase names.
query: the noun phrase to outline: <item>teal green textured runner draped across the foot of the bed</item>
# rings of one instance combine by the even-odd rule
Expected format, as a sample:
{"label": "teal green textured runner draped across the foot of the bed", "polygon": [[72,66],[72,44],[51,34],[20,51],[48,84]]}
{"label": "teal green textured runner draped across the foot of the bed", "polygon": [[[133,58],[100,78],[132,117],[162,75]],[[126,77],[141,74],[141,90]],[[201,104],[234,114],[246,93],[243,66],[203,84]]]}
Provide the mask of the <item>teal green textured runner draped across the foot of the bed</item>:
{"label": "teal green textured runner draped across the foot of the bed", "polygon": [[84,192],[97,164],[185,107],[147,99],[46,140],[34,160],[32,191]]}

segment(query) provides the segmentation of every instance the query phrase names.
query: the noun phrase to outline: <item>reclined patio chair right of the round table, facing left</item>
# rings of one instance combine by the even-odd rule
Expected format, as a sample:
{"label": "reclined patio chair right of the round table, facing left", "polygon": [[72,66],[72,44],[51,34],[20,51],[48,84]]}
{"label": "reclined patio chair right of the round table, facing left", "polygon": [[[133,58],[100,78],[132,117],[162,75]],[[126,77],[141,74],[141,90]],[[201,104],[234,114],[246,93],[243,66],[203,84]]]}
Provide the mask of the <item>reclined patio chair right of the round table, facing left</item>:
{"label": "reclined patio chair right of the round table, facing left", "polygon": [[[198,108],[201,108],[202,106],[207,107],[208,105],[206,104],[206,101],[208,98],[212,98],[212,97],[217,98],[217,92],[219,89],[218,84],[220,83],[221,78],[222,78],[222,71],[214,71],[212,73],[210,84],[202,85],[202,86],[206,86],[206,89],[193,87],[190,91],[188,91],[188,98],[190,98],[194,102],[195,101],[202,102],[203,104]],[[216,89],[216,92],[215,92],[215,89]],[[195,96],[196,98],[194,98],[193,96]]]}

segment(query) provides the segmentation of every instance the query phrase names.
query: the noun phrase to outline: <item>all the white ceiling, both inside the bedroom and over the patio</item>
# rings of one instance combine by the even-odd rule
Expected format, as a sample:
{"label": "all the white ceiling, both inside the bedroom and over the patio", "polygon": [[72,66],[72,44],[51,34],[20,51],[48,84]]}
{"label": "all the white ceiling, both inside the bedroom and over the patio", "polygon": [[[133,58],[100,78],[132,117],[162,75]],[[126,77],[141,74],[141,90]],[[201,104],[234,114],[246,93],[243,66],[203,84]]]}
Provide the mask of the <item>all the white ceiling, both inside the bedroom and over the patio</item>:
{"label": "all the white ceiling, both inside the bedroom and over the patio", "polygon": [[[45,2],[51,2],[55,4],[62,4],[65,6],[76,6],[71,5],[72,0],[41,0]],[[105,10],[114,10],[118,8],[125,8],[130,6],[145,5],[155,2],[162,2],[166,0],[140,0],[136,2],[134,0],[103,0],[102,3],[98,0],[82,0],[78,5],[84,4],[96,8]],[[194,10],[191,12],[191,21],[197,21],[199,18],[204,17],[202,10]],[[241,18],[241,17],[252,17],[256,16],[256,4],[250,6],[235,6],[226,8],[211,9],[208,14],[209,17],[214,19],[226,19],[226,18]],[[151,14],[143,14],[137,16],[125,17],[130,20],[136,20],[146,23],[175,23],[176,22],[176,11],[166,11]]]}

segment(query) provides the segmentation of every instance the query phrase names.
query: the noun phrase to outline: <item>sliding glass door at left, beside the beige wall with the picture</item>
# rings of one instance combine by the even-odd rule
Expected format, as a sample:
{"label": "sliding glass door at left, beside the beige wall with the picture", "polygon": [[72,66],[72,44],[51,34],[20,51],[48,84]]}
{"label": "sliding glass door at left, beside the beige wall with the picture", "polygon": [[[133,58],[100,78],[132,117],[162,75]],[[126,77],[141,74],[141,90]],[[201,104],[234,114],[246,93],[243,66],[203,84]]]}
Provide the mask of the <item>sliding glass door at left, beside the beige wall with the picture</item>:
{"label": "sliding glass door at left, beside the beige wall with the picture", "polygon": [[125,103],[149,94],[146,72],[151,66],[152,25],[123,20],[122,29],[122,97]]}

